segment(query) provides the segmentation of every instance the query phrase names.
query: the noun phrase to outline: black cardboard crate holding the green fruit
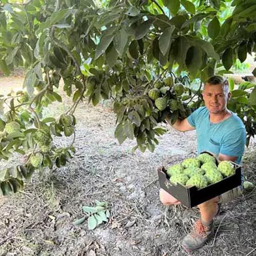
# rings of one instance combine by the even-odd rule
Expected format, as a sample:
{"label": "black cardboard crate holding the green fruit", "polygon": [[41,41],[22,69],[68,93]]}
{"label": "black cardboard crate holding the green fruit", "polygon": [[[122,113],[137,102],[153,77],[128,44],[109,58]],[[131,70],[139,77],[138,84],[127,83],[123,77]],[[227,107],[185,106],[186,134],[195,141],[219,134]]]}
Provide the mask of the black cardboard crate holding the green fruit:
{"label": "black cardboard crate holding the green fruit", "polygon": [[192,208],[241,185],[242,166],[234,162],[231,163],[235,166],[234,175],[226,177],[215,184],[208,185],[201,189],[197,189],[195,186],[188,188],[179,183],[177,185],[171,183],[166,174],[166,169],[164,167],[160,167],[158,168],[160,187],[178,199],[185,206]]}

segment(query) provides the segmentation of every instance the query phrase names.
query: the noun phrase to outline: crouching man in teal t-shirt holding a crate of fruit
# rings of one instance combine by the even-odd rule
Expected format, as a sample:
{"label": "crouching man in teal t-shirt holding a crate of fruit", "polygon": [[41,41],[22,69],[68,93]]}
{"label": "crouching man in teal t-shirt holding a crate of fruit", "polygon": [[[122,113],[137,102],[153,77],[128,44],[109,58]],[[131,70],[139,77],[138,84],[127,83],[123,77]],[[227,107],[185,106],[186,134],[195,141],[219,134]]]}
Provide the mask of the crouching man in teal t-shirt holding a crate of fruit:
{"label": "crouching man in teal t-shirt holding a crate of fruit", "polygon": [[[198,154],[208,151],[220,161],[231,160],[239,164],[244,153],[246,130],[242,120],[227,109],[230,96],[228,81],[221,76],[212,76],[204,85],[204,107],[186,119],[177,120],[173,125],[168,116],[166,120],[180,132],[196,130]],[[237,187],[198,205],[201,218],[194,230],[183,239],[182,246],[187,251],[202,247],[214,234],[213,219],[221,203],[240,196],[242,191],[242,187]],[[165,205],[180,204],[163,189],[160,189],[160,200]]]}

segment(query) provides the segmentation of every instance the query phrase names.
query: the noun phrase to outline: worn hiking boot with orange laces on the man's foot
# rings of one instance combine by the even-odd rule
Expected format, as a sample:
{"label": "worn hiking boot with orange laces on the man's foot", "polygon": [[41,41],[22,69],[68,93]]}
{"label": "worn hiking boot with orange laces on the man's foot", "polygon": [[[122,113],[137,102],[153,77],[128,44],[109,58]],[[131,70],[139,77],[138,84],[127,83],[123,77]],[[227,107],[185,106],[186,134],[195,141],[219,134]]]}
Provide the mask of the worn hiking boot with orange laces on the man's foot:
{"label": "worn hiking boot with orange laces on the man's foot", "polygon": [[214,234],[214,222],[204,225],[199,219],[194,230],[191,231],[182,241],[183,248],[190,252],[195,249],[202,247]]}

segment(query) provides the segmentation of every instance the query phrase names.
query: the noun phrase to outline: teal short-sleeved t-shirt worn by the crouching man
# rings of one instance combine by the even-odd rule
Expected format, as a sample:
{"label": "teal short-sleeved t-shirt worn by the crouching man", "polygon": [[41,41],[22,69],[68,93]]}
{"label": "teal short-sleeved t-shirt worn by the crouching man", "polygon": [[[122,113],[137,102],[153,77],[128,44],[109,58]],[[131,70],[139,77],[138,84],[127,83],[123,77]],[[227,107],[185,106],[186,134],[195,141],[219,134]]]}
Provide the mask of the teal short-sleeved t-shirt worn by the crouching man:
{"label": "teal short-sleeved t-shirt worn by the crouching man", "polygon": [[246,142],[246,130],[242,120],[234,113],[219,123],[211,123],[205,106],[194,111],[187,120],[197,132],[197,151],[208,151],[217,156],[237,156],[241,163]]}

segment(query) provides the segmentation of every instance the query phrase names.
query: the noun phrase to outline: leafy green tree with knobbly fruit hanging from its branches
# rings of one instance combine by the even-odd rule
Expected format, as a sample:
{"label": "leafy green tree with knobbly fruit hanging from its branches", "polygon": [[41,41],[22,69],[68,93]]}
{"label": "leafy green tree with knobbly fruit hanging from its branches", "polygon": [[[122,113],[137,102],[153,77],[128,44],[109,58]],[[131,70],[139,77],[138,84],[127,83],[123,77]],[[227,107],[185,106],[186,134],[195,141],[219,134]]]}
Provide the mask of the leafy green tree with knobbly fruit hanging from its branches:
{"label": "leafy green tree with knobbly fruit hanging from its branches", "polygon": [[[254,0],[93,1],[32,0],[0,5],[0,70],[27,70],[25,91],[2,97],[9,111],[0,120],[0,157],[28,154],[25,164],[1,171],[3,195],[16,192],[35,169],[65,165],[74,151],[55,148],[54,136],[74,136],[74,112],[85,96],[97,105],[112,99],[119,143],[136,138],[137,148],[154,151],[157,127],[203,105],[202,82],[255,52]],[[256,70],[253,71],[256,75]],[[61,101],[60,79],[74,104],[55,118],[42,109]],[[191,83],[195,86],[192,87]],[[230,80],[228,108],[246,126],[247,145],[256,133],[255,84]]]}

